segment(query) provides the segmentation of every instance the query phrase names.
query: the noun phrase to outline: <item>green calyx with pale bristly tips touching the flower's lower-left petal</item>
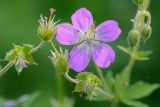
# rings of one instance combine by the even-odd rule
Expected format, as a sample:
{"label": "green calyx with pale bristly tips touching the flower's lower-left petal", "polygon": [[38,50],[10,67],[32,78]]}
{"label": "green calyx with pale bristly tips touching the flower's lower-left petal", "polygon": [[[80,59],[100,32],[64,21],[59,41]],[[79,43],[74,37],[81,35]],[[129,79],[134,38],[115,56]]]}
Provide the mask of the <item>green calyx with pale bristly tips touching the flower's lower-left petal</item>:
{"label": "green calyx with pale bristly tips touching the flower's lower-left petal", "polygon": [[52,52],[51,60],[53,65],[55,66],[55,69],[58,72],[61,72],[61,73],[68,72],[69,67],[68,67],[68,51],[67,50],[63,52],[63,50],[60,48],[60,52],[58,53],[58,55],[57,53]]}

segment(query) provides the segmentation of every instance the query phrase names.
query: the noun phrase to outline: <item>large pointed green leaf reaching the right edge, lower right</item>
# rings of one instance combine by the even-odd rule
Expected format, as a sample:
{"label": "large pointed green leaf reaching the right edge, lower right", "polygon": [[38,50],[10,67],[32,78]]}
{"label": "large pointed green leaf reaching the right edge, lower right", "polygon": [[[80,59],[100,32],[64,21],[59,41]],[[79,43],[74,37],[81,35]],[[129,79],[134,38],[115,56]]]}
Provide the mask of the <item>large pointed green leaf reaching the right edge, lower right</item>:
{"label": "large pointed green leaf reaching the right edge, lower right", "polygon": [[142,81],[136,82],[131,85],[126,91],[124,91],[123,96],[129,99],[139,99],[150,95],[154,90],[159,88],[159,84],[149,84]]}

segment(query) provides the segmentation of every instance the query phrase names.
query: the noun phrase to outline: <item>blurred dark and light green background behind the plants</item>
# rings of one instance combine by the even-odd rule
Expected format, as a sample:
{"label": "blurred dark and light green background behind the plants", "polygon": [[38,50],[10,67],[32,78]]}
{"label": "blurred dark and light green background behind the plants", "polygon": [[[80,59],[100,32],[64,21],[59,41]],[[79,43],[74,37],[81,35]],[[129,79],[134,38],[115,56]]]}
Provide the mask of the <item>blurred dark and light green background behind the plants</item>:
{"label": "blurred dark and light green background behind the plants", "polygon": [[[134,67],[132,82],[144,80],[150,83],[160,83],[160,0],[151,0],[150,11],[152,14],[153,34],[150,40],[143,45],[143,49],[153,50],[149,61],[137,62]],[[54,7],[56,20],[71,22],[71,15],[80,7],[88,8],[96,20],[96,24],[108,19],[119,22],[122,34],[119,40],[110,43],[116,51],[116,61],[109,68],[114,73],[127,64],[128,56],[117,49],[117,45],[127,46],[126,36],[132,27],[130,21],[136,12],[132,0],[0,0],[0,59],[14,44],[38,44],[37,36],[38,19],[40,14],[49,15],[49,8]],[[56,44],[58,46],[58,44]],[[17,98],[23,94],[41,91],[42,96],[36,100],[33,107],[51,107],[49,98],[55,96],[55,71],[48,56],[50,46],[46,45],[41,51],[34,54],[38,66],[29,66],[20,76],[14,68],[10,69],[0,78],[0,97],[8,99]],[[94,72],[93,63],[87,69]],[[106,72],[106,70],[104,70]],[[65,79],[64,79],[65,80]],[[69,97],[75,98],[74,107],[107,107],[107,102],[90,102],[76,93],[74,85],[65,80],[65,90]],[[160,107],[160,90],[143,99],[151,107]]]}

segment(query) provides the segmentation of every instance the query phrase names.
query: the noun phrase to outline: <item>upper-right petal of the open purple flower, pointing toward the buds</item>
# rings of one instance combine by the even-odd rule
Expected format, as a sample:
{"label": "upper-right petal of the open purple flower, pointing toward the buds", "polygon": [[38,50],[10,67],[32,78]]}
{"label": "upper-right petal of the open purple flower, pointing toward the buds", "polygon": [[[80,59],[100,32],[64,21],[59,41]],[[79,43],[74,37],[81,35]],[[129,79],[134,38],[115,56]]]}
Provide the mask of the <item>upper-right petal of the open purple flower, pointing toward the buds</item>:
{"label": "upper-right petal of the open purple flower, pointing toward the buds", "polygon": [[121,29],[118,23],[114,20],[108,20],[97,26],[95,36],[97,40],[111,42],[118,39],[120,34]]}

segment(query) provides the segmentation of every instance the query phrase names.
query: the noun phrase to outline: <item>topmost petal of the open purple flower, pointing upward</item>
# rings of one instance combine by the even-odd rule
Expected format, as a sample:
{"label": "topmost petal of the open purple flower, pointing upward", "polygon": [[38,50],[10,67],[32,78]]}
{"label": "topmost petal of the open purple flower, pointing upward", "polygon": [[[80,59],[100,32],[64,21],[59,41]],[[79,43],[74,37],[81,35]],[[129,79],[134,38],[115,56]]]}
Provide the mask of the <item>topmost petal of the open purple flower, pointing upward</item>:
{"label": "topmost petal of the open purple flower, pointing upward", "polygon": [[72,23],[80,31],[86,32],[93,25],[92,14],[86,8],[81,8],[72,15]]}

